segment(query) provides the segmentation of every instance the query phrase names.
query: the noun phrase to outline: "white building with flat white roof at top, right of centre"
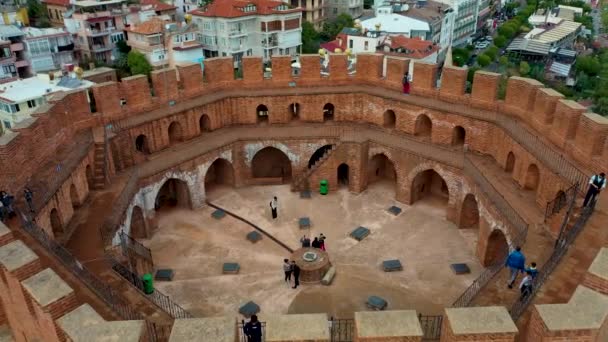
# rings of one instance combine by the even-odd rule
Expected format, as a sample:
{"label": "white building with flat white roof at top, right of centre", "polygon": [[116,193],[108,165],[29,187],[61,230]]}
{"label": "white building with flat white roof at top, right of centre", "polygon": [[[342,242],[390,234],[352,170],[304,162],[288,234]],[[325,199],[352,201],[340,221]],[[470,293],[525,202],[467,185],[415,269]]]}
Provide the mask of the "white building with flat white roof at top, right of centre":
{"label": "white building with flat white roof at top, right of centre", "polygon": [[361,27],[368,31],[382,31],[387,34],[402,34],[408,38],[427,39],[431,34],[429,23],[393,13],[391,6],[376,9],[376,17],[361,21]]}

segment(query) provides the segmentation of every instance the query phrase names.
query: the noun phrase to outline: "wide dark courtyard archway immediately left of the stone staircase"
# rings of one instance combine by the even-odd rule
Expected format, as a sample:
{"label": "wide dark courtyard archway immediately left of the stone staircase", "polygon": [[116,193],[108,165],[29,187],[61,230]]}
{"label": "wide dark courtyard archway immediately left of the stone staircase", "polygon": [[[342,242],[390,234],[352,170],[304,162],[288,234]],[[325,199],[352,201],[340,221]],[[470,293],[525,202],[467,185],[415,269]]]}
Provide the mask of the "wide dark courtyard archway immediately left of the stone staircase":
{"label": "wide dark courtyard archway immediately left of the stone staircase", "polygon": [[275,178],[281,183],[291,180],[291,161],[283,151],[275,147],[259,150],[251,160],[253,178]]}

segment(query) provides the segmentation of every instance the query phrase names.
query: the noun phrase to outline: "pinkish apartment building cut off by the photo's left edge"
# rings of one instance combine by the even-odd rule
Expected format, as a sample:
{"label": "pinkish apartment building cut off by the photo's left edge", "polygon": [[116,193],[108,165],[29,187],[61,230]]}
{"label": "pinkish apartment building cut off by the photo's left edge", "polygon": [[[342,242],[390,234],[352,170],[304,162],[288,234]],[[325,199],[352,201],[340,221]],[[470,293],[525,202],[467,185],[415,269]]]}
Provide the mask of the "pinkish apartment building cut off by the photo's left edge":
{"label": "pinkish apartment building cut off by the photo's left edge", "polygon": [[[15,25],[0,25],[0,45],[3,46],[2,70],[0,71],[0,83],[9,82],[18,78],[31,75],[30,63],[27,60],[23,39],[25,33]],[[5,48],[9,50],[6,51]],[[10,55],[9,55],[10,52]]]}

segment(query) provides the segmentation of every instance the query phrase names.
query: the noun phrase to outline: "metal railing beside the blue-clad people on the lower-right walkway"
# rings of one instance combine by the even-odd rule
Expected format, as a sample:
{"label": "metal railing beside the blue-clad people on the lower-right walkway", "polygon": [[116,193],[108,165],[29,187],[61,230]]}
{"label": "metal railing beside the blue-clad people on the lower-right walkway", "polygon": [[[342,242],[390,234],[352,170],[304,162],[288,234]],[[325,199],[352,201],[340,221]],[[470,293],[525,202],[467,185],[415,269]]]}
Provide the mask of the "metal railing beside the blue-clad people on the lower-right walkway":
{"label": "metal railing beside the blue-clad people on the lower-right walkway", "polygon": [[[576,199],[574,198],[573,202],[575,200]],[[532,281],[532,291],[527,296],[520,297],[520,299],[515,301],[515,303],[513,303],[513,305],[511,306],[509,313],[511,314],[511,318],[513,319],[513,321],[516,321],[524,313],[528,305],[532,303],[532,300],[534,299],[534,296],[536,296],[536,293],[538,293],[545,281],[549,278],[549,276],[551,276],[551,273],[553,273],[555,268],[557,268],[559,262],[568,252],[568,248],[574,242],[578,234],[583,230],[583,227],[589,220],[589,217],[591,217],[591,214],[593,214],[594,207],[595,202],[592,203],[589,207],[583,208],[581,215],[574,222],[572,228],[570,228],[563,235],[561,235],[561,238],[557,241],[555,248],[553,249],[553,253],[549,257],[547,262],[545,262],[545,264],[540,268],[538,275]],[[564,220],[564,225],[567,225],[567,221],[568,219],[566,218]]]}

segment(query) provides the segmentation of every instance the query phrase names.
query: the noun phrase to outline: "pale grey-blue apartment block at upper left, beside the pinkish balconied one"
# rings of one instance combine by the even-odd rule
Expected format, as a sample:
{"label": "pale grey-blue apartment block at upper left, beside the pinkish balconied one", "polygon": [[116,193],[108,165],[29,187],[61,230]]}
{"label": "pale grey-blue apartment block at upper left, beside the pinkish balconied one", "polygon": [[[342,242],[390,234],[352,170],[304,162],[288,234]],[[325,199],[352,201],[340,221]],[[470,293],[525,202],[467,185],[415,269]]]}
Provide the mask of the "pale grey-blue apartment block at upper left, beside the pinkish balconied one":
{"label": "pale grey-blue apartment block at upper left, beside the pinkish balconied one", "polygon": [[33,74],[74,63],[74,42],[65,29],[24,27],[25,57]]}

